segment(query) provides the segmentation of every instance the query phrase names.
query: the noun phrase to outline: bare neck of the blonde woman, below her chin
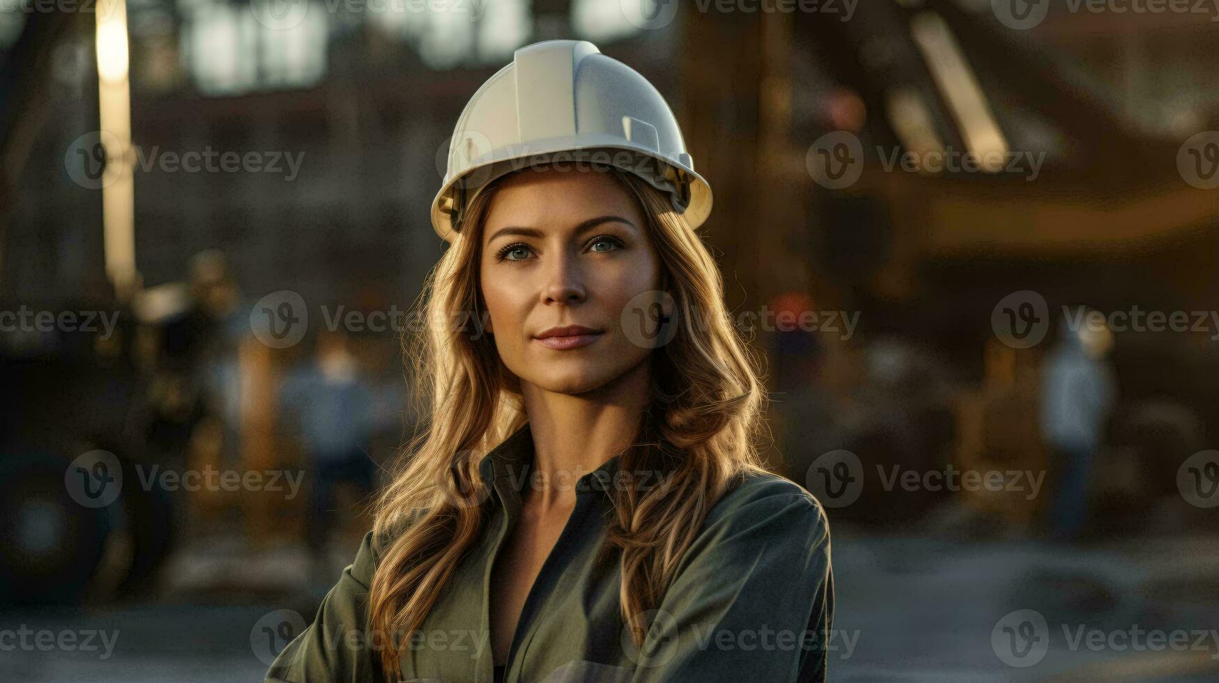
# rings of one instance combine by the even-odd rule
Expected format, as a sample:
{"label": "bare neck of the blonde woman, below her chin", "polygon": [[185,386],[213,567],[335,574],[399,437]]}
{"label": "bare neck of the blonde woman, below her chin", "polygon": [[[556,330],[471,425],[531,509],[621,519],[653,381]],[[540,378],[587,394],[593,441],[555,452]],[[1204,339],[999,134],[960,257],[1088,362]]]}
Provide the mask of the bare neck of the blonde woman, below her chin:
{"label": "bare neck of the blonde woman, below her chin", "polygon": [[639,363],[618,379],[581,394],[524,384],[534,440],[534,466],[524,502],[547,510],[575,501],[575,482],[630,445],[650,395],[651,365]]}

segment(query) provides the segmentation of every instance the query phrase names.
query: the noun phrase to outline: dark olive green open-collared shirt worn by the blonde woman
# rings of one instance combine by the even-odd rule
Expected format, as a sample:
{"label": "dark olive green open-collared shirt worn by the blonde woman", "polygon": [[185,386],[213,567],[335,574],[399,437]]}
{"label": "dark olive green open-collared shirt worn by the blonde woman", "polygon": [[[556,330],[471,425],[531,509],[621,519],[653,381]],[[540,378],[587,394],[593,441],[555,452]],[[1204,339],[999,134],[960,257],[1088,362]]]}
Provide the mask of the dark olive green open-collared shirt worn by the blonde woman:
{"label": "dark olive green open-collared shirt worn by the blonde woman", "polygon": [[[491,563],[521,513],[533,462],[528,424],[479,463],[489,523],[418,628],[402,637],[401,679],[492,683]],[[773,474],[736,484],[708,512],[635,646],[619,615],[619,551],[597,562],[618,456],[575,483],[575,507],[521,610],[503,673],[516,682],[824,681],[834,620],[824,511]],[[279,654],[267,681],[384,681],[369,635],[372,533]]]}

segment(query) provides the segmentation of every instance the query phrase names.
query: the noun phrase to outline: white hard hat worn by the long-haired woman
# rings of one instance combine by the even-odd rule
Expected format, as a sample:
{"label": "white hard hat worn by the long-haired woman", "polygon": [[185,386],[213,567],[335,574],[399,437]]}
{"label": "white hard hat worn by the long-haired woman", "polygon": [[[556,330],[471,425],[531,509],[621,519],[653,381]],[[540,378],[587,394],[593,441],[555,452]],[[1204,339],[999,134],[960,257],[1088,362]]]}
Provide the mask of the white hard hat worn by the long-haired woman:
{"label": "white hard hat worn by the long-haired woman", "polygon": [[486,183],[542,162],[630,171],[668,193],[691,228],[711,213],[711,185],[695,173],[664,98],[586,40],[521,48],[474,93],[453,128],[432,227],[452,241]]}

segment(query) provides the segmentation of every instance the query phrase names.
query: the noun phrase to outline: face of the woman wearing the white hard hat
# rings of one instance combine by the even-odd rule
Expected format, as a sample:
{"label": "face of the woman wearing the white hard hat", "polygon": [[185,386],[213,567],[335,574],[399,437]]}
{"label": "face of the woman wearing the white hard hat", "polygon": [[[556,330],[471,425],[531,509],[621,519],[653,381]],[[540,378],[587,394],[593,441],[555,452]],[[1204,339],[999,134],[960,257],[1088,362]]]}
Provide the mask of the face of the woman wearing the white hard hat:
{"label": "face of the woman wearing the white hard hat", "polygon": [[[647,359],[623,334],[623,311],[661,287],[638,202],[608,172],[524,170],[488,207],[479,263],[488,332],[522,383],[597,389]],[[542,339],[552,328],[592,331]]]}

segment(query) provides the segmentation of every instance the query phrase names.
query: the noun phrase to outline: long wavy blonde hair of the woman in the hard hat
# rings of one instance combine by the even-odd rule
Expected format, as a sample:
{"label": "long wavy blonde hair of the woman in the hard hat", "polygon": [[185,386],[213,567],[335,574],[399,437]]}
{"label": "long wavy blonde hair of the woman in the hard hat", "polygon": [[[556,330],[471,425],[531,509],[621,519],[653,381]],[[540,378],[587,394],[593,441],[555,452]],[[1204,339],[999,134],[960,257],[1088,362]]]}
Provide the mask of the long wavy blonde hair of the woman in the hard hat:
{"label": "long wavy blonde hair of the woman in the hard hat", "polygon": [[[708,510],[734,478],[764,471],[755,439],[767,396],[757,359],[728,318],[723,281],[706,245],[658,190],[631,173],[611,174],[647,217],[677,305],[675,335],[652,351],[652,396],[636,443],[619,461],[624,476],[644,470],[663,476],[646,489],[614,487],[617,516],[601,552],[620,551],[622,618],[640,645],[641,615],[659,605]],[[480,328],[482,229],[492,193],[488,187],[471,202],[464,228],[416,302],[423,329],[403,337],[424,426],[377,501],[380,560],[369,592],[377,633],[419,628],[483,528],[482,502],[490,493],[479,460],[527,422],[519,381]],[[400,640],[383,642],[382,667],[393,681]]]}

